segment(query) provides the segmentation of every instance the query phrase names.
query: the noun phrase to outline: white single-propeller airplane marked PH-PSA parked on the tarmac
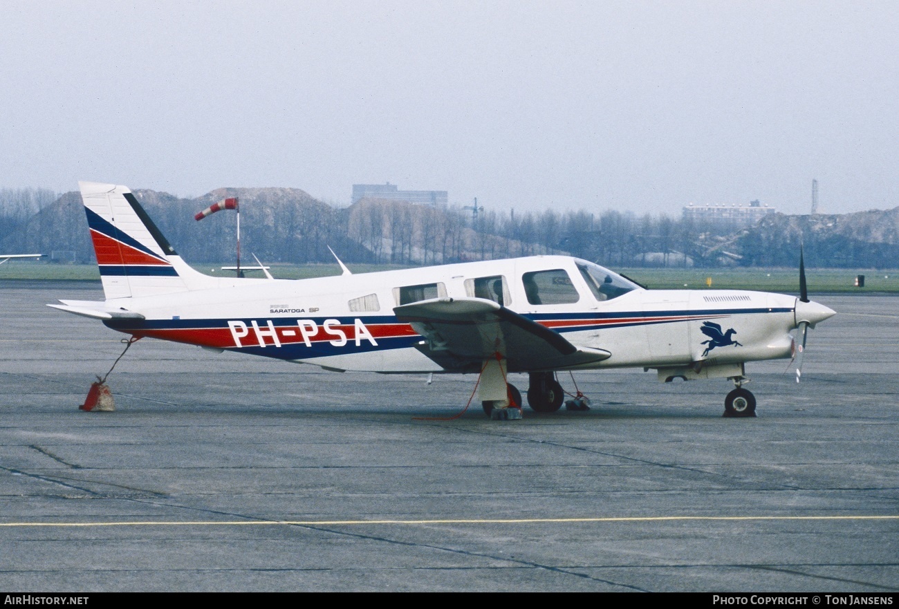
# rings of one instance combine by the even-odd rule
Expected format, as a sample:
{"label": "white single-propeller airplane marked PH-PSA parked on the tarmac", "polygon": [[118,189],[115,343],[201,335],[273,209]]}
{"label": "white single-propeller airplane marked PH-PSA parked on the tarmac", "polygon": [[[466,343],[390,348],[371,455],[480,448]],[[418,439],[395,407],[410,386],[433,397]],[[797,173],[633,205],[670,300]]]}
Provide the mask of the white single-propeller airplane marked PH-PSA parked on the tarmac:
{"label": "white single-propeller airplane marked PH-PSA parked on the tarmac", "polygon": [[834,314],[808,301],[801,264],[799,298],[645,289],[567,256],[360,275],[341,262],[335,277],[213,278],[175,253],[129,189],[80,187],[106,300],[49,306],[137,338],[326,370],[479,375],[478,398],[494,418],[520,417],[507,373],[528,373],[531,409],[549,412],[564,400],[556,372],[622,367],[654,369],[665,382],[729,378],[725,415],[754,416],[745,363],[798,353],[798,370],[808,328]]}

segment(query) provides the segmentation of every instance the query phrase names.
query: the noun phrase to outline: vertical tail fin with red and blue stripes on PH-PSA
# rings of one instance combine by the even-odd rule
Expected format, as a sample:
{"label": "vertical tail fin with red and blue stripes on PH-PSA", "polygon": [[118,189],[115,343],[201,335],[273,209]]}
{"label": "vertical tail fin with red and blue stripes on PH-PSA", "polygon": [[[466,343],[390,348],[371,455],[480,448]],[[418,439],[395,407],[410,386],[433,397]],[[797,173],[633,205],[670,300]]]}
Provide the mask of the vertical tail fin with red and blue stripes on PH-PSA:
{"label": "vertical tail fin with red and blue stripes on PH-PSA", "polygon": [[181,259],[127,187],[89,181],[78,186],[107,300],[218,284]]}

